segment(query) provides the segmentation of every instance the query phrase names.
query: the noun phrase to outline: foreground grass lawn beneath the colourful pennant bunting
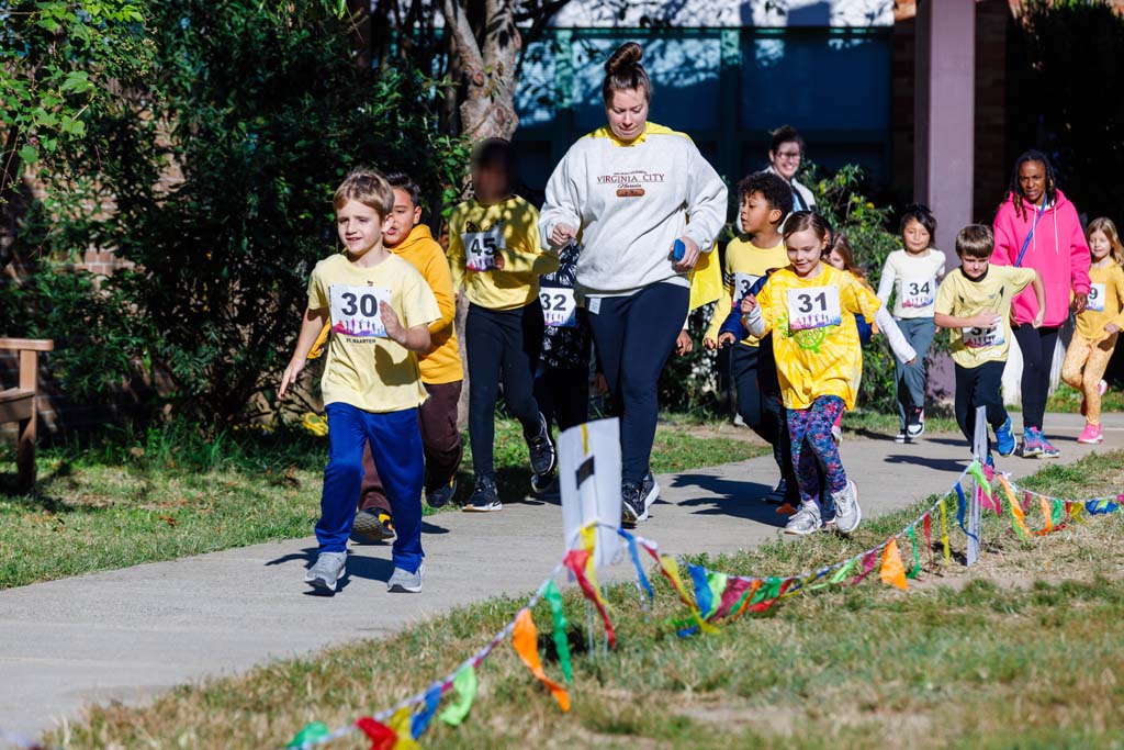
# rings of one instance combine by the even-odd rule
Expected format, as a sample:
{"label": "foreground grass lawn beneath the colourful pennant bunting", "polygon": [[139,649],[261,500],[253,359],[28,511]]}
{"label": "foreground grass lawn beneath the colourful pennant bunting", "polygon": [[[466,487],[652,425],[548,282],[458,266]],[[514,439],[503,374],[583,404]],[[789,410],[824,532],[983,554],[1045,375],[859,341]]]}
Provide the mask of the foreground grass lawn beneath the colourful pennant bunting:
{"label": "foreground grass lawn beneath the colourful pennant bunting", "polygon": [[[1124,452],[1049,467],[1024,484],[1079,499],[1115,493]],[[851,540],[822,534],[710,562],[792,573],[861,551],[917,512],[865,523]],[[1028,522],[1036,528],[1037,514]],[[608,598],[618,648],[596,659],[584,652],[583,605],[570,587],[571,713],[502,644],[480,670],[465,724],[435,722],[423,747],[1120,748],[1122,535],[1124,518],[1097,517],[1024,545],[991,515],[970,572],[953,564],[923,573],[907,593],[871,581],[798,596],[687,640],[667,623],[683,612],[667,586],[656,584],[651,614],[631,585],[617,586]],[[963,549],[959,532],[952,541]],[[65,748],[280,747],[310,721],[335,728],[424,688],[520,604],[484,602],[384,641],[183,687],[143,708],[93,708],[48,739]],[[560,679],[550,615],[534,614],[546,670]]]}

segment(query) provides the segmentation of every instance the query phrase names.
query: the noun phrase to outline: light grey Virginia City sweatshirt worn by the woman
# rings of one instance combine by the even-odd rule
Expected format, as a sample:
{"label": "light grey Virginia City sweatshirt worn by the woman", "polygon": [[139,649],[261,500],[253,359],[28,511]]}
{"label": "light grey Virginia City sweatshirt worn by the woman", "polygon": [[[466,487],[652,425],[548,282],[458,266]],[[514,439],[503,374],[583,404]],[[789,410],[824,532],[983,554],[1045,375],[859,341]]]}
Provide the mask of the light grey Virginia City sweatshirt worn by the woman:
{"label": "light grey Virginia City sweatshirt worn by the woman", "polygon": [[543,246],[568,224],[581,233],[578,288],[628,295],[661,281],[687,287],[671,246],[690,237],[709,252],[726,223],[726,186],[689,137],[649,123],[632,143],[608,127],[574,143],[546,183]]}

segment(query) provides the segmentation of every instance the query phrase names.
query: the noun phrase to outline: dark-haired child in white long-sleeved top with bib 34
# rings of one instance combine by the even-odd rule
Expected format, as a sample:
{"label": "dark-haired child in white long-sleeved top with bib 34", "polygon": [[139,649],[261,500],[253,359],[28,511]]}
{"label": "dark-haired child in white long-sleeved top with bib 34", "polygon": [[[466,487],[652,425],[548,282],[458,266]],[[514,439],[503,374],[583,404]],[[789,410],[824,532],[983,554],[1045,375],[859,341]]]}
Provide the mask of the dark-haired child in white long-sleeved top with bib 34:
{"label": "dark-haired child in white long-sleeved top with bib 34", "polygon": [[933,246],[936,217],[925,206],[913,205],[901,215],[901,250],[889,254],[878,282],[878,298],[889,305],[894,297],[894,319],[917,361],[909,367],[895,362],[898,434],[896,443],[908,443],[925,432],[925,355],[933,345],[936,324],[933,305],[937,280],[944,275],[945,256]]}

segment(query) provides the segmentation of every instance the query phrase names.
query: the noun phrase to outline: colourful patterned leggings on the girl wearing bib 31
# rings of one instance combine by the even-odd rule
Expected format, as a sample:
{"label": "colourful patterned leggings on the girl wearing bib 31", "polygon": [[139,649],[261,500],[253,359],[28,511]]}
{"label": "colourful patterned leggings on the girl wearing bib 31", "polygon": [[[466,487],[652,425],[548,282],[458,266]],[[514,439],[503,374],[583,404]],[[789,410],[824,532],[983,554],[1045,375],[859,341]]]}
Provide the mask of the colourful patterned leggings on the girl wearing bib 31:
{"label": "colourful patterned leggings on the girl wearing bib 31", "polygon": [[822,469],[832,495],[846,489],[846,471],[832,440],[832,425],[843,413],[839,396],[821,396],[806,409],[788,409],[788,434],[792,439],[792,463],[800,482],[800,503],[819,500]]}

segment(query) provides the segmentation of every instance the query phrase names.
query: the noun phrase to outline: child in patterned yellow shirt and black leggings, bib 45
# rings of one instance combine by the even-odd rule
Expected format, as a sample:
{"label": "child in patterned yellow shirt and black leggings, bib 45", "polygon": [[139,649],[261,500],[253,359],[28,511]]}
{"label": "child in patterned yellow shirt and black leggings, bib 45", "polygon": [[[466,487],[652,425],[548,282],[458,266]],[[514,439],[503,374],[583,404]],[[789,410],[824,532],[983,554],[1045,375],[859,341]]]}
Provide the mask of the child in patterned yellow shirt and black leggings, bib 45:
{"label": "child in patterned yellow shirt and black leggings, bib 45", "polygon": [[472,153],[474,197],[448,217],[448,263],[453,289],[466,287],[464,323],[469,359],[469,442],[475,473],[464,510],[502,510],[492,449],[496,401],[504,383],[507,409],[523,425],[531,469],[554,471],[556,453],[534,396],[535,362],[543,338],[538,277],[559,259],[538,245],[538,211],[513,193],[515,150],[507,141],[484,141]]}

